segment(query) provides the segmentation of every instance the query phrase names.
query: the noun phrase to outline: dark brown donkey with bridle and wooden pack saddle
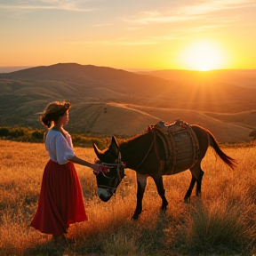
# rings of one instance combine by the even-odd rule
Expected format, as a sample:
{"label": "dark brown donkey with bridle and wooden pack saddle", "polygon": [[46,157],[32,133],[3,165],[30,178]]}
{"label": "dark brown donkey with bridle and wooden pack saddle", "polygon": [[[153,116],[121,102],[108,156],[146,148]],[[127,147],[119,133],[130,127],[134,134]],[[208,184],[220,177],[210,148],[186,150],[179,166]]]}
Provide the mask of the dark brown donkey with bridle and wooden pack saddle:
{"label": "dark brown donkey with bridle and wooden pack saddle", "polygon": [[178,121],[169,126],[163,125],[163,122],[148,126],[148,131],[120,145],[113,136],[109,147],[105,150],[100,150],[93,144],[99,162],[112,165],[108,173],[101,172],[97,176],[98,196],[102,201],[108,202],[115,194],[117,186],[124,178],[124,167],[134,170],[137,174],[137,205],[132,216],[133,220],[138,220],[142,212],[142,199],[148,176],[156,183],[157,192],[162,198],[161,209],[165,212],[168,202],[164,195],[163,175],[190,170],[192,179],[184,197],[184,202],[188,203],[195,183],[196,196],[201,196],[204,175],[201,162],[209,146],[230,168],[236,167],[236,160],[220,149],[211,132],[199,125]]}

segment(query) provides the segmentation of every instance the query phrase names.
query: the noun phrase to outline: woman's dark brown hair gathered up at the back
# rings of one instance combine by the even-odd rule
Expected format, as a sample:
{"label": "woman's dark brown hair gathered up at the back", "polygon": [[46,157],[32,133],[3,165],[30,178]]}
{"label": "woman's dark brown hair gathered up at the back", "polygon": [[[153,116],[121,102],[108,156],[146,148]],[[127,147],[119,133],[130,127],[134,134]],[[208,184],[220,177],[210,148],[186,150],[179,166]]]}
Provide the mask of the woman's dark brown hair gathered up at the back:
{"label": "woman's dark brown hair gathered up at the back", "polygon": [[54,101],[44,109],[43,114],[39,117],[39,121],[44,127],[49,129],[52,126],[52,122],[57,121],[69,108],[71,108],[71,104],[66,100],[62,102]]}

